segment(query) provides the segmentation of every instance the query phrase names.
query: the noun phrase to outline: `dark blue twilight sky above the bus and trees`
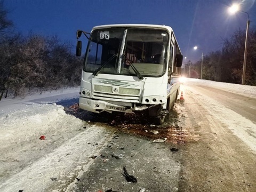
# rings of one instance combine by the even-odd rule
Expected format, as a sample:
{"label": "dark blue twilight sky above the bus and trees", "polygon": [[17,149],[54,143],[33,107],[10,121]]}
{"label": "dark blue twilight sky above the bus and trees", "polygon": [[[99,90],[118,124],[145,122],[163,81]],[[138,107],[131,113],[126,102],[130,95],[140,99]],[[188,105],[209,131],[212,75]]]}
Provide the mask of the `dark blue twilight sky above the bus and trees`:
{"label": "dark blue twilight sky above the bus and trees", "polygon": [[[202,52],[221,50],[223,39],[237,29],[246,29],[247,14],[228,12],[234,2],[241,3],[241,10],[249,13],[250,27],[255,27],[255,0],[5,0],[4,7],[15,31],[57,35],[74,47],[77,29],[90,32],[93,26],[115,23],[171,26],[187,57],[183,62],[195,62]],[[196,45],[198,50],[193,49]]]}

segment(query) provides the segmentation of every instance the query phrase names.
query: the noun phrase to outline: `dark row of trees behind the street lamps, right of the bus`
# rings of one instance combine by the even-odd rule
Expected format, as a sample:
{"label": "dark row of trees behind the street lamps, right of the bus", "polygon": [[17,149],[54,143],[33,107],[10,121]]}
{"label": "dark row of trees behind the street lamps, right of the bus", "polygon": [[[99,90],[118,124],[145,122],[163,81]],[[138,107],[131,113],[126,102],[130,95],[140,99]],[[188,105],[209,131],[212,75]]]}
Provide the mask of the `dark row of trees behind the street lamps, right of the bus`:
{"label": "dark row of trees behind the street lamps, right of the bus", "polygon": [[[222,50],[214,51],[203,56],[203,79],[226,83],[242,83],[245,33],[245,30],[238,29],[230,38],[223,39]],[[201,77],[201,61],[192,63],[190,77]],[[185,69],[185,75],[188,76],[189,69],[188,67]],[[256,85],[255,27],[248,34],[245,84]]]}

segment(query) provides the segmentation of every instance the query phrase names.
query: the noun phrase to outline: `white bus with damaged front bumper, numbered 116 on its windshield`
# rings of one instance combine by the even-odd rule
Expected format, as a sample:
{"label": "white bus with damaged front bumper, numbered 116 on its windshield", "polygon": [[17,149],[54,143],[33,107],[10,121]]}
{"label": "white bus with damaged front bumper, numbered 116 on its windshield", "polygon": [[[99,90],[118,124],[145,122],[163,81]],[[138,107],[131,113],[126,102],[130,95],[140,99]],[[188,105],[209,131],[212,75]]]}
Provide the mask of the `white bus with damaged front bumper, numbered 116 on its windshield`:
{"label": "white bus with damaged front bumper, numbered 116 on its windshield", "polygon": [[79,107],[94,113],[148,110],[156,124],[163,124],[179,94],[183,58],[172,28],[129,24],[77,30],[77,56],[82,34],[89,42]]}

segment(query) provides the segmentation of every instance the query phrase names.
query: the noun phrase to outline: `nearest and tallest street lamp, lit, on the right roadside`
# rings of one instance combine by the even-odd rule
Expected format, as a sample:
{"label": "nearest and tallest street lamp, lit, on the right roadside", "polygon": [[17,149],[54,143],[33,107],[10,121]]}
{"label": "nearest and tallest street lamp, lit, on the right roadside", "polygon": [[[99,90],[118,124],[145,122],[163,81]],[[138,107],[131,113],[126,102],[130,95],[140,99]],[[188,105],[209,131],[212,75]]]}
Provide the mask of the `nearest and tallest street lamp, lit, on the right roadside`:
{"label": "nearest and tallest street lamp, lit, on the right roadside", "polygon": [[247,25],[246,25],[246,35],[245,35],[245,47],[244,47],[244,63],[243,63],[243,75],[242,75],[242,85],[245,84],[245,71],[246,71],[246,58],[247,58],[247,45],[248,45],[248,31],[249,31],[249,25],[250,25],[250,20],[249,20],[249,14],[244,11],[239,10],[239,5],[238,4],[233,4],[231,7],[229,7],[229,12],[231,14],[234,14],[236,12],[243,12],[247,14]]}

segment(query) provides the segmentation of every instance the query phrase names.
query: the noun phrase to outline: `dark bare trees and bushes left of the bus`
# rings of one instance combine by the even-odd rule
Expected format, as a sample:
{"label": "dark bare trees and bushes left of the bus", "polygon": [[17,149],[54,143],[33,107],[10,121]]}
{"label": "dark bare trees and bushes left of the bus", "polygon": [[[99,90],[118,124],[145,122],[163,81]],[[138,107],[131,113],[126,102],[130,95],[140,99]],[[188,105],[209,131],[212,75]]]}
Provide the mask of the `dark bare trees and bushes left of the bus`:
{"label": "dark bare trees and bushes left of the bus", "polygon": [[34,87],[42,91],[79,85],[82,61],[71,44],[57,36],[15,33],[7,13],[0,1],[0,100],[25,97]]}

